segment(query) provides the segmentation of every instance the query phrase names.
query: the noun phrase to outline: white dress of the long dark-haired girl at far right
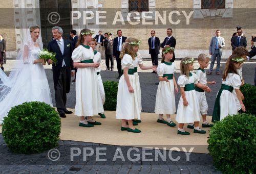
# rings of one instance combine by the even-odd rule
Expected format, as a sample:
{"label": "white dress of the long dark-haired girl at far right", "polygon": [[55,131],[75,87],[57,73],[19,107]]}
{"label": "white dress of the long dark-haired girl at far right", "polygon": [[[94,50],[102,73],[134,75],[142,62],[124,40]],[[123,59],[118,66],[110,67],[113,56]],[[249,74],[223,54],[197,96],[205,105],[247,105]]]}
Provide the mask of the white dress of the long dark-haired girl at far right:
{"label": "white dress of the long dark-haired girl at far right", "polygon": [[228,73],[226,81],[222,81],[222,84],[232,86],[233,91],[230,92],[228,90],[223,90],[220,95],[220,120],[225,118],[228,114],[237,114],[241,109],[241,105],[235,91],[235,89],[239,89],[242,84],[240,76],[235,73]]}

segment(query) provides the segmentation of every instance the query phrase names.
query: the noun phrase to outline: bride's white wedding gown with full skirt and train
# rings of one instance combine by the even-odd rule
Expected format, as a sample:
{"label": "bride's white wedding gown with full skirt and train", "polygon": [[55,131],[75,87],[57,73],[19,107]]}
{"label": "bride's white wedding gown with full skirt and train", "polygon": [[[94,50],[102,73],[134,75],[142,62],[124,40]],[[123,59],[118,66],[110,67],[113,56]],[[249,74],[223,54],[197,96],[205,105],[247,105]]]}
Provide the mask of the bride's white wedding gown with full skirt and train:
{"label": "bride's white wedding gown with full skirt and train", "polygon": [[14,72],[15,77],[10,77],[10,74],[7,78],[3,71],[0,73],[0,79],[2,79],[0,125],[13,106],[32,101],[45,102],[52,106],[51,92],[44,66],[41,63],[33,64],[34,60],[38,59],[39,51],[40,48],[34,46],[29,49],[28,59],[17,60],[22,64],[20,64],[20,68],[12,69],[12,71],[16,71]]}

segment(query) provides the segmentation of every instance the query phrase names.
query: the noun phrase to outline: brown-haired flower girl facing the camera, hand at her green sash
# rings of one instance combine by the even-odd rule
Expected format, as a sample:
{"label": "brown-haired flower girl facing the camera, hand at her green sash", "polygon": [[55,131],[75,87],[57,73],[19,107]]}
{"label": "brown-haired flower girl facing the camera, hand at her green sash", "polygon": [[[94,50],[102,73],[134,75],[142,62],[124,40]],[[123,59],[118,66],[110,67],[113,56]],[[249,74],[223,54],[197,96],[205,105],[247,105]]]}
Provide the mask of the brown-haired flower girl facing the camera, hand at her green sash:
{"label": "brown-haired flower girl facing the camera, hand at her green sash", "polygon": [[[176,71],[175,64],[170,62],[174,56],[174,48],[165,46],[162,49],[162,61],[157,67],[159,85],[157,88],[155,113],[159,114],[157,122],[165,123],[170,127],[175,127],[176,123],[170,119],[170,114],[176,111],[175,93],[178,92],[177,83],[174,77]],[[167,121],[163,119],[166,114]]]}

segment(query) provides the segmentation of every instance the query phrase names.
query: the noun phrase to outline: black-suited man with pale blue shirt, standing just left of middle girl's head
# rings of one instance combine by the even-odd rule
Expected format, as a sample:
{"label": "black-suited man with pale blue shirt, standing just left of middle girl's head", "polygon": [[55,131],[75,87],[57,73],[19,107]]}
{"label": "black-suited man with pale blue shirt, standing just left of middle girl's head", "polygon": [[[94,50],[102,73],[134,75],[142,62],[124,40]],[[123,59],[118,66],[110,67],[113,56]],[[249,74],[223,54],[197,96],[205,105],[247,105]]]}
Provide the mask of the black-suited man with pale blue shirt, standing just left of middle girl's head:
{"label": "black-suited man with pale blue shirt, standing just left of middle girl's head", "polygon": [[121,70],[122,70],[121,59],[119,58],[119,55],[120,55],[120,52],[122,49],[122,44],[123,44],[123,42],[125,42],[127,37],[122,36],[121,30],[117,30],[116,33],[117,33],[118,37],[116,37],[113,42],[113,56],[114,56],[114,58],[116,58],[116,65],[117,65],[117,69],[118,69],[118,78],[117,79],[119,79],[121,77]]}

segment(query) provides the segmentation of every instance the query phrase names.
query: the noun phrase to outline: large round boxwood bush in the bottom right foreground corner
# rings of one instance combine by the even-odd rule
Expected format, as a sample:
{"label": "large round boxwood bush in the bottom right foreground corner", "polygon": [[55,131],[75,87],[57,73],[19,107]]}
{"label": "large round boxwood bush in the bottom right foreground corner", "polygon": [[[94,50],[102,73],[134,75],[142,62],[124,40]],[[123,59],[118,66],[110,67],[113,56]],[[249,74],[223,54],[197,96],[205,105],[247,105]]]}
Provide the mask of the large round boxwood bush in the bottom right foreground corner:
{"label": "large round boxwood bush in the bottom right foreground corner", "polygon": [[255,173],[256,117],[228,115],[214,124],[208,138],[209,154],[223,173]]}

